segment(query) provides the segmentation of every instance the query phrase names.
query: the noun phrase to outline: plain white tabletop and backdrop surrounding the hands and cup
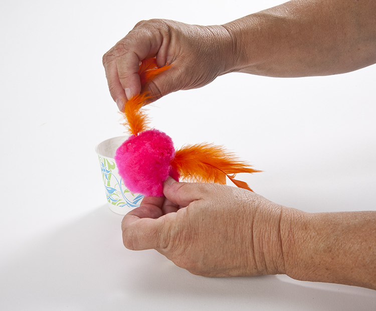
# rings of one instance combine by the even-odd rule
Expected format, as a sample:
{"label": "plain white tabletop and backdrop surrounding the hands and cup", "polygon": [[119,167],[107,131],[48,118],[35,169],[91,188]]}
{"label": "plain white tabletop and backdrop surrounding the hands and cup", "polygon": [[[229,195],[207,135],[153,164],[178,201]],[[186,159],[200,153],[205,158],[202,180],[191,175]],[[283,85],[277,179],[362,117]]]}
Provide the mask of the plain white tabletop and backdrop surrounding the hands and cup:
{"label": "plain white tabletop and backdrop surrounding the hands and cup", "polygon": [[[220,24],[278,0],[21,1],[0,9],[1,310],[373,310],[376,291],[287,276],[204,278],[129,251],[94,146],[123,134],[102,55],[139,20]],[[226,145],[245,180],[309,212],[376,210],[376,66],[278,79],[229,74],[150,107],[177,147]]]}

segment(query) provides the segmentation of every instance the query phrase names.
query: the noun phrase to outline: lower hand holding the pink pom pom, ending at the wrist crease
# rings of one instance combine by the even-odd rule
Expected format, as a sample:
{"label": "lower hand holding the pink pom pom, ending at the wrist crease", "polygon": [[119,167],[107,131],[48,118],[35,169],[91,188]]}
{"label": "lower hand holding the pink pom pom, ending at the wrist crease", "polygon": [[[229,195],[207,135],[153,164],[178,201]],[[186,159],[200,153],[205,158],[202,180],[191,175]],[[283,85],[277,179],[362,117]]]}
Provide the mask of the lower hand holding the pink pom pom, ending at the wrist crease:
{"label": "lower hand holding the pink pom pom, ending at the wrist crease", "polygon": [[125,247],[156,249],[204,276],[284,272],[282,206],[239,188],[173,182],[164,184],[165,198],[146,197],[125,215]]}

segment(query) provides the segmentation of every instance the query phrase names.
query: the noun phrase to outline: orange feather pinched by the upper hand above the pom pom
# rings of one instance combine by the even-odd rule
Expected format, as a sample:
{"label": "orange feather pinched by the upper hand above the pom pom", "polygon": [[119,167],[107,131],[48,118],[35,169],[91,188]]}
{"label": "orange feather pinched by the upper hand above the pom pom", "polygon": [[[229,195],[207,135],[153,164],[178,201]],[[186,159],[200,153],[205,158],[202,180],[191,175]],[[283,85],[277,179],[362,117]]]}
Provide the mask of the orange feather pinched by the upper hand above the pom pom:
{"label": "orange feather pinched by the upper hand above the pom pom", "polygon": [[155,58],[143,60],[138,70],[141,82],[140,94],[133,96],[124,105],[124,126],[128,128],[129,134],[138,135],[138,133],[148,129],[149,119],[145,111],[141,108],[153,96],[148,92],[148,84],[163,71],[167,70],[170,65],[158,68]]}

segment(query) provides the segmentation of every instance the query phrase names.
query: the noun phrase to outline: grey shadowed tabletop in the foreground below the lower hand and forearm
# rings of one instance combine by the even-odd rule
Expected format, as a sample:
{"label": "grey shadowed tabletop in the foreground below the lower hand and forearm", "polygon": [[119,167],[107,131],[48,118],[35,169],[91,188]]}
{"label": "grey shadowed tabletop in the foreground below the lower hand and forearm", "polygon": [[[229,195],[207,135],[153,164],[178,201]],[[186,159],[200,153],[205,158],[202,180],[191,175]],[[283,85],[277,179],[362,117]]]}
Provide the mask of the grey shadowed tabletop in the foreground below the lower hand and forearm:
{"label": "grey shadowed tabletop in the foreground below the lower hand and forearm", "polygon": [[18,246],[0,267],[1,310],[372,310],[376,291],[287,276],[205,278],[121,240],[102,206]]}

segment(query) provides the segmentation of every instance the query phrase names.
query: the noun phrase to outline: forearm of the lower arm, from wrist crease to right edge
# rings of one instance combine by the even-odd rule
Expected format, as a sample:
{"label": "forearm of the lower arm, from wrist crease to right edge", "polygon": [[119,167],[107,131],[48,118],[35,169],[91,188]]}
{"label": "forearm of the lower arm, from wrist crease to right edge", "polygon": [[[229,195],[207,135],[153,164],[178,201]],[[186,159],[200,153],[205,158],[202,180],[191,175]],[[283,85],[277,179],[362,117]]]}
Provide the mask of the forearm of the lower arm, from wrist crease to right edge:
{"label": "forearm of the lower arm, from wrist crease to right edge", "polygon": [[375,214],[291,209],[281,226],[285,273],[303,281],[376,289]]}

